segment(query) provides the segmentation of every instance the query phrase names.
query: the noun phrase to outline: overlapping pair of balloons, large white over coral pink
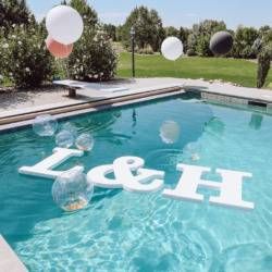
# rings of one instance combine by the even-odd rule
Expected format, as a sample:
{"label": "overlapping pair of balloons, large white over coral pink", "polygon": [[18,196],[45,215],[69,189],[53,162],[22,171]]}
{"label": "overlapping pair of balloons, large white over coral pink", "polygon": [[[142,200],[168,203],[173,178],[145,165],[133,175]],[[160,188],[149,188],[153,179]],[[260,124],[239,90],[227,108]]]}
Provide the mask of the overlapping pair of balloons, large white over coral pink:
{"label": "overlapping pair of balloons, large white over coral pink", "polygon": [[46,39],[47,49],[60,59],[67,58],[73,51],[84,29],[81,14],[71,7],[58,5],[46,17],[46,27],[49,33]]}

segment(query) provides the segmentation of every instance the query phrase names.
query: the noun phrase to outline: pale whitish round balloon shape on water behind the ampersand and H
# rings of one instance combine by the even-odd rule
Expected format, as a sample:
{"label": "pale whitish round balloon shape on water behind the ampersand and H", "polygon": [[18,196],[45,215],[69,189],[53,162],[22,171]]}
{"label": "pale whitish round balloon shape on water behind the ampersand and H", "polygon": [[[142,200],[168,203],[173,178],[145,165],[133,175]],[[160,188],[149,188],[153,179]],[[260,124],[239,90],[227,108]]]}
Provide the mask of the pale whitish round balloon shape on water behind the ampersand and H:
{"label": "pale whitish round balloon shape on water behind the ampersand and H", "polygon": [[165,121],[160,127],[161,140],[168,145],[175,144],[181,134],[180,125],[174,121]]}

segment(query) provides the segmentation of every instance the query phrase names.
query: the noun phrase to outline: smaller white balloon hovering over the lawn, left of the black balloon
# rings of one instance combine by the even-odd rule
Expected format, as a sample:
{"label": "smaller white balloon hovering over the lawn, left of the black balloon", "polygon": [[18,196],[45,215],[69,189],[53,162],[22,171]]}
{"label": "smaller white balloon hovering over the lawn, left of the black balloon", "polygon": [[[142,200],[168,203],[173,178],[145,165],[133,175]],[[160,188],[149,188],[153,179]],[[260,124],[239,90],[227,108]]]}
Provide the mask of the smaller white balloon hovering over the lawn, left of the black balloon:
{"label": "smaller white balloon hovering over the lawn, left of the black balloon", "polygon": [[176,61],[183,54],[183,42],[176,37],[169,37],[161,45],[163,57],[170,61]]}

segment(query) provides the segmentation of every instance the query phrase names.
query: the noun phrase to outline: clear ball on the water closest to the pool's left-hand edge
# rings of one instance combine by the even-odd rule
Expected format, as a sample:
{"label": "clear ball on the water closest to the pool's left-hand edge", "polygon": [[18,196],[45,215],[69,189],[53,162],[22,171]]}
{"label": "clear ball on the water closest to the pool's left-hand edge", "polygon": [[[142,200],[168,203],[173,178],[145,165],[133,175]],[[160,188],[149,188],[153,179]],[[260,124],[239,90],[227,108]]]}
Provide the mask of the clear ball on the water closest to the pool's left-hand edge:
{"label": "clear ball on the water closest to the pool's left-hand edge", "polygon": [[42,137],[53,136],[58,129],[58,121],[50,114],[39,115],[33,122],[33,131]]}

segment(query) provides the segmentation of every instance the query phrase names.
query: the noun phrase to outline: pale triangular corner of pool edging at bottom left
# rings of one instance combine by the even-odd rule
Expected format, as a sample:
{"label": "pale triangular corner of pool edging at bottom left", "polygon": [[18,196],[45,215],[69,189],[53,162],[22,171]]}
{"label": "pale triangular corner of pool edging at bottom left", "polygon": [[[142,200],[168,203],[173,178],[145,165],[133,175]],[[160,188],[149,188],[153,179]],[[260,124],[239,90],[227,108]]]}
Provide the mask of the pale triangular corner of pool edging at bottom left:
{"label": "pale triangular corner of pool edging at bottom left", "polygon": [[27,272],[24,263],[18,259],[17,255],[12,250],[5,239],[0,235],[0,271],[9,272]]}

